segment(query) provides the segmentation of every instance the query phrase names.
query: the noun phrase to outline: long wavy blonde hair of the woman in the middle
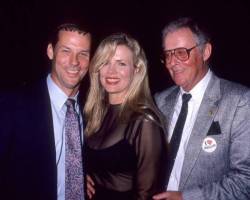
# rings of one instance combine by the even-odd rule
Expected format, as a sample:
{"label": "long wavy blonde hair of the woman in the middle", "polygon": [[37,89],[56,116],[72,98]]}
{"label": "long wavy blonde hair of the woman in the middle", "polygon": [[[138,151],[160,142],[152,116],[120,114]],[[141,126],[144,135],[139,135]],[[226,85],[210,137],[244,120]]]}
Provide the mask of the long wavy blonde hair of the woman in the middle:
{"label": "long wavy blonde hair of the woman in the middle", "polygon": [[125,111],[128,109],[142,113],[143,109],[148,108],[151,112],[158,113],[149,89],[147,59],[143,49],[135,39],[125,33],[112,34],[99,44],[89,66],[91,86],[84,107],[87,120],[85,134],[87,136],[95,133],[100,128],[106,114],[109,105],[108,94],[101,85],[99,71],[114,56],[119,45],[125,45],[131,50],[134,67],[137,69],[137,73],[135,73],[122,102],[120,119],[126,118]]}

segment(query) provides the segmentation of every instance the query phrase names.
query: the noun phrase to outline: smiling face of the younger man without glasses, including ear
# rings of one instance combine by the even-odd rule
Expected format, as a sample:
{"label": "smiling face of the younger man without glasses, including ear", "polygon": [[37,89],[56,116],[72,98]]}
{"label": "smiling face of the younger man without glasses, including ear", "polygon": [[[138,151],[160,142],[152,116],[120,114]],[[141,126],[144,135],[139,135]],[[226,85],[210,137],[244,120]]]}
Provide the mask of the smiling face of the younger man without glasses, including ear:
{"label": "smiling face of the younger man without glasses, including ear", "polygon": [[88,71],[91,37],[76,31],[60,31],[55,47],[48,45],[52,60],[51,77],[68,96],[74,96]]}

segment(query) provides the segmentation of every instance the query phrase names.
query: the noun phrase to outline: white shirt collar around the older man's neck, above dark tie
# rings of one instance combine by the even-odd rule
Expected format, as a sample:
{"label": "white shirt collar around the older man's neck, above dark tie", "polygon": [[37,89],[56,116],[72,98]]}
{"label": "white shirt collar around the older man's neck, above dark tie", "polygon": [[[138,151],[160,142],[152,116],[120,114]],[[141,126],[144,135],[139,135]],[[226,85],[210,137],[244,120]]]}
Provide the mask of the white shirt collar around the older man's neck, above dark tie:
{"label": "white shirt collar around the older man's neck, above dark tie", "polygon": [[[192,99],[194,100],[202,99],[211,77],[212,77],[212,72],[210,69],[208,69],[206,75],[193,87],[192,90],[189,91],[189,93],[192,95]],[[180,89],[180,91],[181,95],[186,93],[182,88]]]}

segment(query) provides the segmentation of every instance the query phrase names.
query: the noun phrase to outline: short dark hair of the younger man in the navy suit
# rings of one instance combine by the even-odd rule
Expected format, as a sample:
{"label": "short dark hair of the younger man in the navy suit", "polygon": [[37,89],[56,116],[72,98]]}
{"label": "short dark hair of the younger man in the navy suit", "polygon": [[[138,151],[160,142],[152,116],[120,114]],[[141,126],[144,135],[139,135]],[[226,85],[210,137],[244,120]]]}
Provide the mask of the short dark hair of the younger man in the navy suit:
{"label": "short dark hair of the younger man in the navy suit", "polygon": [[58,25],[54,31],[52,31],[52,34],[49,38],[49,43],[52,44],[52,46],[55,46],[58,42],[58,36],[60,31],[72,31],[72,32],[78,32],[79,34],[86,35],[90,34],[90,28],[88,25],[82,25],[82,24],[76,24],[76,23],[63,23]]}

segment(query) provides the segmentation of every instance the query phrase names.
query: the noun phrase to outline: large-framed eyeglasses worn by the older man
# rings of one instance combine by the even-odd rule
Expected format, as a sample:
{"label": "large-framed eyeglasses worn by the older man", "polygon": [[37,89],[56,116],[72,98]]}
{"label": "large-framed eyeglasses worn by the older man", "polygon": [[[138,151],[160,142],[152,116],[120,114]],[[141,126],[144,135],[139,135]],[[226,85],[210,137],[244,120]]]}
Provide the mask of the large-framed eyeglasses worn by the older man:
{"label": "large-framed eyeglasses worn by the older man", "polygon": [[162,56],[162,63],[167,63],[169,64],[172,59],[172,55],[174,55],[178,60],[180,61],[187,61],[190,57],[190,52],[198,47],[201,44],[197,44],[189,49],[181,47],[181,48],[176,48],[176,49],[171,49],[171,50],[165,50],[163,51],[163,56]]}

